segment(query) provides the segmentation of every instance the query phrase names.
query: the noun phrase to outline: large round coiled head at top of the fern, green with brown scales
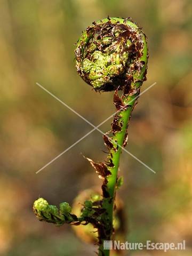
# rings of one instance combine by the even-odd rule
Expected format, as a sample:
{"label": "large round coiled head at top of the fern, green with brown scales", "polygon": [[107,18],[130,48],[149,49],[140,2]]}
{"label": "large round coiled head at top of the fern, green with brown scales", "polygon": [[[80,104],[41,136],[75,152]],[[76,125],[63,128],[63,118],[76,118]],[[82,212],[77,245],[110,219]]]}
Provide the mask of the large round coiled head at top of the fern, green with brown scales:
{"label": "large round coiled head at top of the fern, green with brown scales", "polygon": [[77,42],[75,54],[79,75],[96,91],[122,87],[130,75],[139,80],[140,71],[131,65],[135,64],[143,48],[143,36],[142,30],[129,19],[108,18],[93,22]]}

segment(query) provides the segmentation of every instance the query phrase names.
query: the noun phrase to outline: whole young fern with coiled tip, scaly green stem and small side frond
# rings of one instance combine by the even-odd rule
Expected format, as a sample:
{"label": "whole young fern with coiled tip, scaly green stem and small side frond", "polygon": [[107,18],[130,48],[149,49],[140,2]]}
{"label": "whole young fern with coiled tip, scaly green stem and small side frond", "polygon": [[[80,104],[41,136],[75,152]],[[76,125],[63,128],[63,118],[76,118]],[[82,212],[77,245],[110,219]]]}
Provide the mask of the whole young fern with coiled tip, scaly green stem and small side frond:
{"label": "whole young fern with coiled tip, scaly green stem and small side frond", "polygon": [[[87,158],[102,183],[102,199],[85,201],[81,215],[71,213],[68,203],[49,205],[43,198],[34,202],[34,212],[40,221],[62,225],[91,223],[98,231],[98,255],[109,255],[103,241],[111,240],[114,233],[113,213],[118,178],[119,158],[127,143],[127,126],[131,113],[146,80],[148,49],[146,36],[130,18],[106,18],[93,22],[83,31],[76,44],[76,68],[84,81],[95,91],[114,91],[116,114],[111,130],[103,135],[108,149],[105,162],[95,163]],[[118,91],[122,91],[121,97]]]}

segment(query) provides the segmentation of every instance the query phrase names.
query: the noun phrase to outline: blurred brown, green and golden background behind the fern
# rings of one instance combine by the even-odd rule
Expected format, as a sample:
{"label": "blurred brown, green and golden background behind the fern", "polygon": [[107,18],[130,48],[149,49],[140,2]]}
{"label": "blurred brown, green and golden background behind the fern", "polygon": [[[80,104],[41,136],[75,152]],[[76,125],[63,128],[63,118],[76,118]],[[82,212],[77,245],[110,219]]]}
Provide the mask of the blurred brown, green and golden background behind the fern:
{"label": "blurred brown, green and golden background behind the fern", "polygon": [[[129,242],[181,242],[192,254],[192,2],[190,0],[1,0],[0,1],[0,255],[90,256],[70,226],[39,222],[32,205],[73,202],[101,181],[82,154],[105,159],[94,131],[76,147],[35,172],[92,127],[36,85],[97,125],[114,112],[113,93],[95,93],[76,74],[74,43],[92,21],[132,17],[148,36],[149,64],[143,94],[133,111],[123,153],[119,190]],[[102,125],[109,130],[110,122]],[[81,154],[82,153],[82,154]],[[128,255],[128,252],[127,252]],[[129,255],[164,255],[132,251]]]}

